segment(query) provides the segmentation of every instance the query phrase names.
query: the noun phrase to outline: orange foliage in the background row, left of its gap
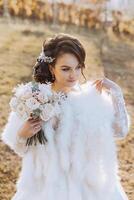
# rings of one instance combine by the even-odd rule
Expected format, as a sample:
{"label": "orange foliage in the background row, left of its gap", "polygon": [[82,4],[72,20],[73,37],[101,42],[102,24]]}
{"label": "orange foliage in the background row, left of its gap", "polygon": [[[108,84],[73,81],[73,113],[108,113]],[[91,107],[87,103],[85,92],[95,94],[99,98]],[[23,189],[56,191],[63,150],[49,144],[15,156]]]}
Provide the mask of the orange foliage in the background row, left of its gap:
{"label": "orange foliage in the background row, left of its gap", "polygon": [[[3,14],[3,1],[0,0],[0,15]],[[54,4],[37,0],[9,0],[8,10],[11,16],[43,20],[51,23],[55,17]],[[56,4],[56,21],[59,24],[98,28],[101,26],[100,10],[84,8],[76,4]]]}

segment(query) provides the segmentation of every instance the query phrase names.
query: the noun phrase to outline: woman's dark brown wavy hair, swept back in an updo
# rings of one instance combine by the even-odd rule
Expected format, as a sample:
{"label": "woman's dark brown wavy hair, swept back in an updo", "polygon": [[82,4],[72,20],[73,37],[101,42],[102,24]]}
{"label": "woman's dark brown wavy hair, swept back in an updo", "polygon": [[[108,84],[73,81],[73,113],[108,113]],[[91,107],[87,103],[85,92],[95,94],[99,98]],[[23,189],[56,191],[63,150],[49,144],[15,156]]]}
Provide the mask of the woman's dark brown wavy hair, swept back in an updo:
{"label": "woman's dark brown wavy hair, swept back in an updo", "polygon": [[76,56],[81,66],[82,75],[86,80],[86,77],[83,74],[86,52],[77,38],[64,33],[54,35],[53,38],[48,38],[43,42],[42,50],[45,53],[45,56],[55,59],[52,63],[40,62],[37,59],[37,62],[33,67],[33,79],[36,82],[47,84],[48,82],[53,83],[55,81],[55,77],[52,75],[49,65],[51,64],[52,67],[55,67],[57,58],[64,53],[71,53]]}

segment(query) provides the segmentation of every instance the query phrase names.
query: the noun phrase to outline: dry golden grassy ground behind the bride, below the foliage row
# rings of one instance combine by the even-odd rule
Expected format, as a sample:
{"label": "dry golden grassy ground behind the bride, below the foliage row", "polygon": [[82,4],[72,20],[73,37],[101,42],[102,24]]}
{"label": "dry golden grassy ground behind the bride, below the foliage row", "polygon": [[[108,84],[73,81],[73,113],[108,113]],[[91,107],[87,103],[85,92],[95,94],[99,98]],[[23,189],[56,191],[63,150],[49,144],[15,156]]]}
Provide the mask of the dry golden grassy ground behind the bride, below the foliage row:
{"label": "dry golden grassy ground behind the bride, below the foliage row", "polygon": [[[129,200],[134,199],[134,42],[107,37],[103,32],[87,32],[73,27],[53,28],[28,22],[5,23],[0,21],[0,132],[10,111],[12,88],[31,80],[32,67],[40,53],[43,40],[57,32],[77,36],[87,51],[87,79],[105,74],[123,90],[126,106],[132,119],[131,129],[124,140],[116,141],[120,176]],[[102,39],[104,42],[102,45]],[[16,188],[21,159],[0,141],[0,200],[9,200]]]}

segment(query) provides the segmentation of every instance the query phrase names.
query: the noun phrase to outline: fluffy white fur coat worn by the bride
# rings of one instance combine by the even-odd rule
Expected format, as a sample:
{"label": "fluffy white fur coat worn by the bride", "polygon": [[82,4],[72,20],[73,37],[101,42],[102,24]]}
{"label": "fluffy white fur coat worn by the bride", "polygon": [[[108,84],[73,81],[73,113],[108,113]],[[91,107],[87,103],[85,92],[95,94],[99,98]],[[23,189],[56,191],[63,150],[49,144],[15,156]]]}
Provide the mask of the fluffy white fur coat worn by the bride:
{"label": "fluffy white fur coat worn by the bride", "polygon": [[90,82],[75,89],[61,104],[58,128],[52,120],[44,123],[45,146],[18,145],[23,122],[10,114],[2,139],[23,158],[12,200],[128,199],[118,176],[111,98]]}

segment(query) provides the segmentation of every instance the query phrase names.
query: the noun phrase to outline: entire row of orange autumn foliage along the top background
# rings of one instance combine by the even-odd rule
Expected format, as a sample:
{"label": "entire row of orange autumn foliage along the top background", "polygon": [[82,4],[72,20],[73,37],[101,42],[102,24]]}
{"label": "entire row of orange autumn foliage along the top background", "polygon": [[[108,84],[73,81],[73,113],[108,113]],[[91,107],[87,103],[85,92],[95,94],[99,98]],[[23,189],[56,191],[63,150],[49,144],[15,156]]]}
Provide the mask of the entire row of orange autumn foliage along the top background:
{"label": "entire row of orange autumn foliage along the top background", "polygon": [[[3,0],[0,0],[0,15],[4,14]],[[42,20],[45,23],[75,25],[78,27],[99,29],[104,27],[104,2],[106,0],[84,0],[89,6],[75,3],[48,3],[41,0],[8,0],[8,12],[11,17],[21,19]],[[83,4],[84,5],[84,4]],[[134,36],[134,20],[124,20],[120,11],[112,12],[112,22],[109,23],[116,34]]]}

